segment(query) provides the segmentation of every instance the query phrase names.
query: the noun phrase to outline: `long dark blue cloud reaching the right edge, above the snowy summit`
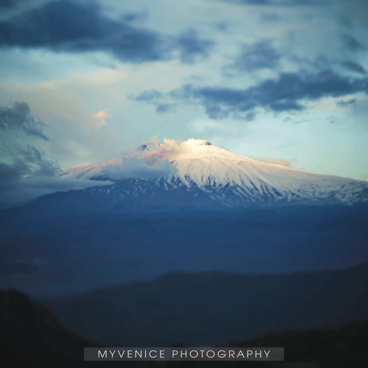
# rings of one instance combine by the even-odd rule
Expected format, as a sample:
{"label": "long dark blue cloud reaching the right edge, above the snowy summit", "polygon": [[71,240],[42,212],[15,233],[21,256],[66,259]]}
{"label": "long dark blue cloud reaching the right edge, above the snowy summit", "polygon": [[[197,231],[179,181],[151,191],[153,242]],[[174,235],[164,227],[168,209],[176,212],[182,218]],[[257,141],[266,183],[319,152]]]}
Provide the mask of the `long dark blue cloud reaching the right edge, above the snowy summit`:
{"label": "long dark blue cloud reaching the right edge, above the snowy summit", "polygon": [[[344,96],[368,91],[368,78],[352,79],[325,70],[317,74],[283,73],[279,79],[268,79],[258,86],[247,89],[222,87],[194,87],[185,85],[166,95],[145,92],[135,97],[158,105],[163,99],[180,102],[200,103],[210,118],[220,119],[232,114],[247,118],[255,107],[263,107],[275,112],[301,110],[302,100],[316,100],[325,96]],[[143,96],[143,97],[142,97]]]}

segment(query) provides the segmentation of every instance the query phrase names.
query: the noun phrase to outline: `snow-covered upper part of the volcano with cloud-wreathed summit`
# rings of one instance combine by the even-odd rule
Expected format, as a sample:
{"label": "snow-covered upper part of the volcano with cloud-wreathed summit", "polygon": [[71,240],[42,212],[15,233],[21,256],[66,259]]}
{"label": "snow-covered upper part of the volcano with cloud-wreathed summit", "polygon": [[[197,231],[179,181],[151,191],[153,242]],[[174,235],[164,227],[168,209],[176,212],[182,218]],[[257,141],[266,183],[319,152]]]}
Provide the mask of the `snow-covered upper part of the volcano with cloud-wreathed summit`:
{"label": "snow-covered upper part of the volcano with cloud-wreathed summit", "polygon": [[259,162],[188,139],[142,144],[120,158],[87,163],[60,176],[112,180],[89,188],[114,204],[249,206],[269,204],[354,204],[368,200],[368,183],[339,176],[311,174]]}

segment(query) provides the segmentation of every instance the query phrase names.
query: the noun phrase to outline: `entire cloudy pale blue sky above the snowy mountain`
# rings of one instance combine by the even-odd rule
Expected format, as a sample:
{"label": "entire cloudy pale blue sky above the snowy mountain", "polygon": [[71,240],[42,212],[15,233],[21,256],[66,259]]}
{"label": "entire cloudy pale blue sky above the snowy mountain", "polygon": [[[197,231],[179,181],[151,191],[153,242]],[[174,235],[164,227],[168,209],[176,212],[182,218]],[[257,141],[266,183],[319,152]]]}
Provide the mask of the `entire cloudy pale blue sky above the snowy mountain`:
{"label": "entire cloudy pale blue sky above the snowy mountain", "polygon": [[366,0],[2,0],[0,202],[164,138],[368,180],[367,40]]}

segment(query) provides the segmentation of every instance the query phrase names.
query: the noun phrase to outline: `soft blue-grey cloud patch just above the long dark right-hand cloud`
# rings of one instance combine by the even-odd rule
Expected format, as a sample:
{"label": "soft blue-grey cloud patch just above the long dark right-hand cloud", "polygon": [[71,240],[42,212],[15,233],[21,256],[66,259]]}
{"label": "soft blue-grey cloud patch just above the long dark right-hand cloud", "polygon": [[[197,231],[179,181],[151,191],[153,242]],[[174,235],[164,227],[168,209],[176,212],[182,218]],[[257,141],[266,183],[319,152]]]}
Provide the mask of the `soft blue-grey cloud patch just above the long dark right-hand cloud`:
{"label": "soft blue-grey cloud patch just above the long dark right-hand cloud", "polygon": [[254,45],[243,45],[241,54],[236,58],[231,68],[239,71],[253,71],[262,68],[274,68],[280,55],[273,49],[267,40]]}

